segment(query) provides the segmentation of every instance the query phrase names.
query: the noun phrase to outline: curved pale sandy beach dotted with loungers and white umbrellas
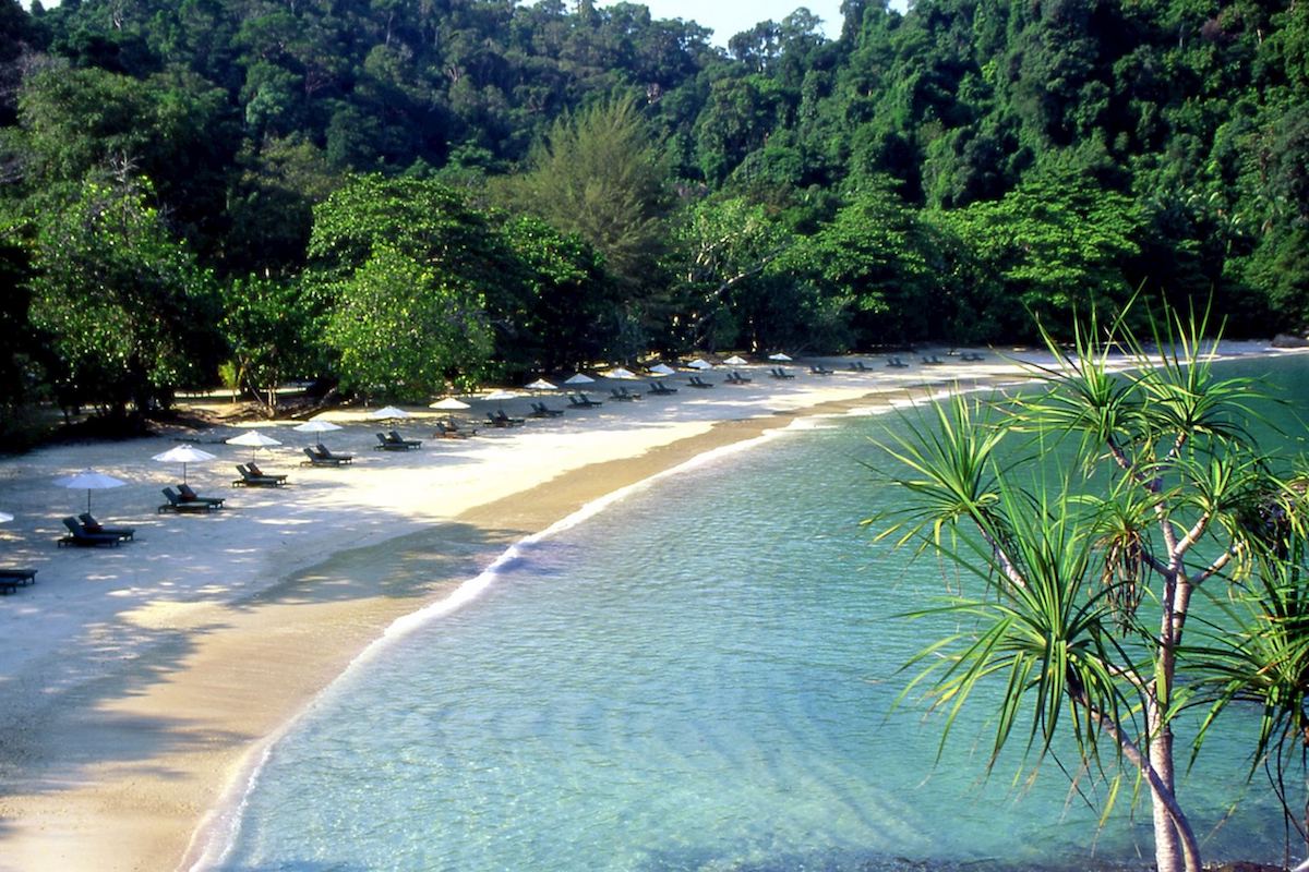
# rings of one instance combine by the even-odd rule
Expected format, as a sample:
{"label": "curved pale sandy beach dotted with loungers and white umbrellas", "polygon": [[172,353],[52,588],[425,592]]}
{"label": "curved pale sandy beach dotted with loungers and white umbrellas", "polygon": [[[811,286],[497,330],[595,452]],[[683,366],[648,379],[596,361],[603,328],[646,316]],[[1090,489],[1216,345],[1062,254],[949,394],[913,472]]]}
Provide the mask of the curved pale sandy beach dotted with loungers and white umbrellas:
{"label": "curved pale sandy beach dotted with loungers and white umbrellas", "polygon": [[[1271,353],[1263,344],[1225,350]],[[944,354],[944,352],[942,352]],[[855,358],[851,358],[855,360]],[[669,377],[672,396],[607,400],[601,408],[529,420],[476,438],[433,439],[436,412],[401,421],[416,451],[374,451],[382,429],[367,409],[332,413],[323,435],[355,463],[301,468],[312,435],[295,422],[260,424],[281,447],[259,464],[289,475],[278,489],[232,488],[250,448],[221,443],[240,429],[188,434],[217,459],[190,464],[202,494],[226,498],[211,515],[158,514],[178,464],[151,458],[175,434],[42,448],[0,460],[0,563],[39,571],[34,586],[0,599],[0,869],[188,869],[221,824],[215,817],[279,729],[397,618],[439,601],[507,546],[592,501],[706,451],[788,426],[922,400],[952,386],[1012,380],[1013,358],[944,357],[940,366],[893,370],[863,358],[823,358],[836,374],[768,377],[738,367],[746,386],[698,391]],[[910,358],[906,358],[910,360]],[[918,360],[915,356],[912,360]],[[1028,358],[1031,360],[1031,358]],[[529,401],[478,401],[484,421]],[[128,484],[90,495],[105,524],[131,526],[119,548],[56,548],[62,519],[86,510],[85,490],[54,478],[94,468]],[[203,864],[202,864],[203,865]]]}

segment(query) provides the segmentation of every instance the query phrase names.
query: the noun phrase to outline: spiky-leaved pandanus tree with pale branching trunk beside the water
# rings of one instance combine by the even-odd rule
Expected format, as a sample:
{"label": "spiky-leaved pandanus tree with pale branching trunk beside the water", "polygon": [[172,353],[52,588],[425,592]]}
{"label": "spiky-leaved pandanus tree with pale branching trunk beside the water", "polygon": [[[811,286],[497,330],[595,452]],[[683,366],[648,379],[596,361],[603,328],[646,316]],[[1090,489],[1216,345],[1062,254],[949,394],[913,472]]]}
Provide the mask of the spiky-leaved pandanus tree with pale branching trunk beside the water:
{"label": "spiky-leaved pandanus tree with pale branching trunk beside the water", "polygon": [[[1135,783],[1161,872],[1200,869],[1177,729],[1199,722],[1198,750],[1224,713],[1262,709],[1251,760],[1283,796],[1309,737],[1304,488],[1250,433],[1259,386],[1223,378],[1206,329],[1169,312],[1149,346],[1121,319],[1068,349],[1047,335],[1039,390],[956,397],[888,446],[908,499],[869,522],[978,579],[915,613],[959,630],[911,660],[902,701],[923,694],[948,736],[999,682],[988,765],[1026,733],[1037,761],[1076,748],[1072,770],[1105,773],[1110,804]],[[1219,608],[1192,618],[1199,591]],[[1208,716],[1179,720],[1196,706]]]}

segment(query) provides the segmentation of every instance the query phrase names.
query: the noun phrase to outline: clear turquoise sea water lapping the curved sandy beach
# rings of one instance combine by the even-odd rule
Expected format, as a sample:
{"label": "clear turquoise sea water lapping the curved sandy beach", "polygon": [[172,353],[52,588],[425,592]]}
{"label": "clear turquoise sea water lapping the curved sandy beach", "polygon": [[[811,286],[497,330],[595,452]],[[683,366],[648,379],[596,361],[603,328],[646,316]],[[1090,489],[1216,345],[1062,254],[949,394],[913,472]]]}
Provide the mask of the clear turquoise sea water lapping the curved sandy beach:
{"label": "clear turquoise sea water lapping the curved sandy beach", "polygon": [[[952,578],[857,526],[894,498],[861,465],[880,463],[869,437],[888,424],[817,421],[525,546],[275,748],[221,868],[1086,869],[1149,856],[1148,811],[1097,833],[1054,761],[1034,783],[1014,783],[1017,758],[984,779],[982,706],[940,760],[940,720],[891,711],[899,667],[949,630],[893,616]],[[1183,788],[1207,855],[1280,858],[1271,797],[1244,787],[1242,746],[1219,743]]]}

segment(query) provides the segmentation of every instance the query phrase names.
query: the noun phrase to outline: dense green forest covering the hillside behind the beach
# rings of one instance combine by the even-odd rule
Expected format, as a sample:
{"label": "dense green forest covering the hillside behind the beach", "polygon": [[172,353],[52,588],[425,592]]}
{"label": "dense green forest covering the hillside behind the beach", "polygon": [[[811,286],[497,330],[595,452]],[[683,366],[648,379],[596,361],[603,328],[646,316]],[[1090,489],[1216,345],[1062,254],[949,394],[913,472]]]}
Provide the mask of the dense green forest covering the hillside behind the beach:
{"label": "dense green forest covering the hillside behind the beach", "polygon": [[[0,403],[1309,326],[1302,0],[0,0]],[[12,416],[7,416],[12,417]]]}

